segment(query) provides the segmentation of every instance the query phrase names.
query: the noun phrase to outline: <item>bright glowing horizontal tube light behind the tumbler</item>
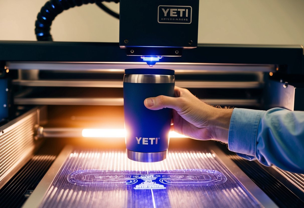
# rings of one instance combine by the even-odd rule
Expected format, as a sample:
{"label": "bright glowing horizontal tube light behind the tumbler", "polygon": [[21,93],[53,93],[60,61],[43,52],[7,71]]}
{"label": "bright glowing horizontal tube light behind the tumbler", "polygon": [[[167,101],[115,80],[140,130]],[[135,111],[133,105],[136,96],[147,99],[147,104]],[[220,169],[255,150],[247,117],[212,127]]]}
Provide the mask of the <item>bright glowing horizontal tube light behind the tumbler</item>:
{"label": "bright glowing horizontal tube light behind the tumbler", "polygon": [[[83,137],[125,137],[126,130],[125,129],[83,129],[82,130]],[[169,133],[170,138],[187,138],[187,136],[178,134],[174,131]]]}

